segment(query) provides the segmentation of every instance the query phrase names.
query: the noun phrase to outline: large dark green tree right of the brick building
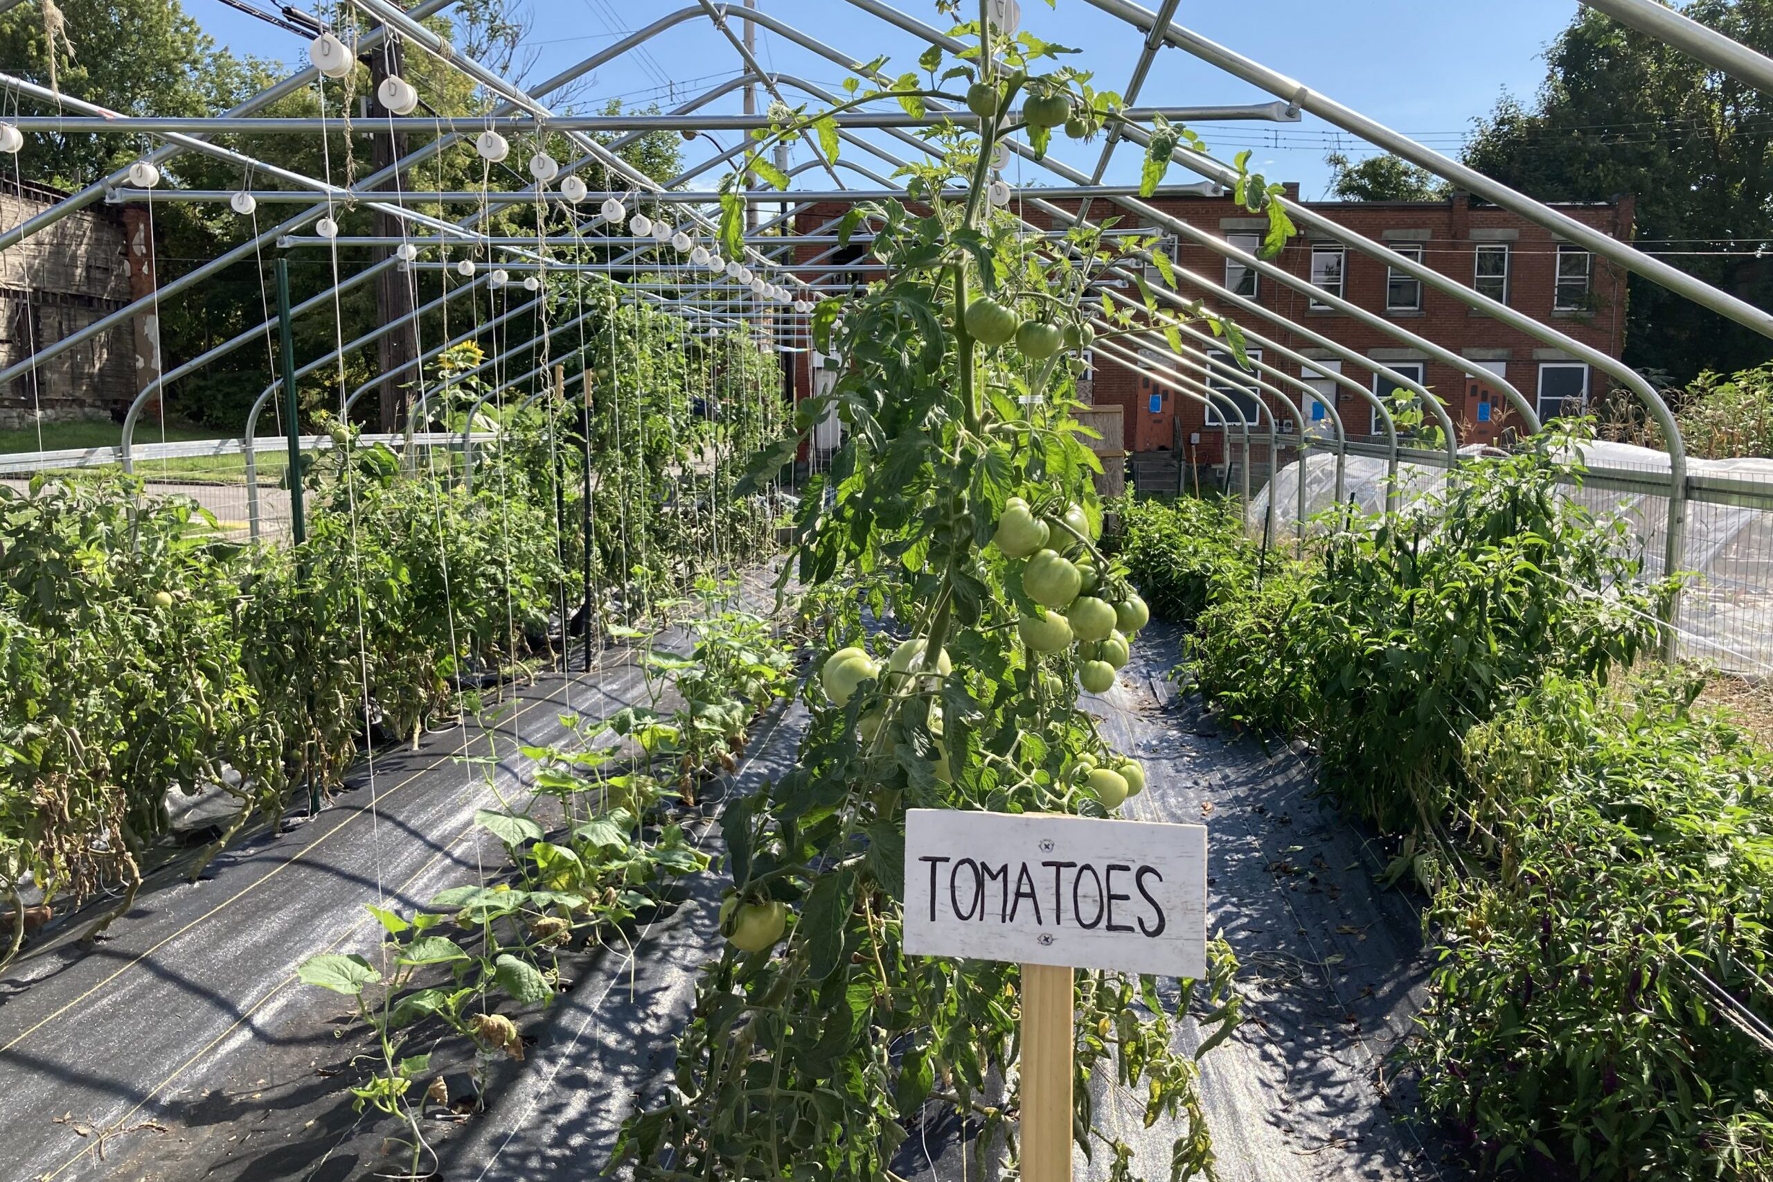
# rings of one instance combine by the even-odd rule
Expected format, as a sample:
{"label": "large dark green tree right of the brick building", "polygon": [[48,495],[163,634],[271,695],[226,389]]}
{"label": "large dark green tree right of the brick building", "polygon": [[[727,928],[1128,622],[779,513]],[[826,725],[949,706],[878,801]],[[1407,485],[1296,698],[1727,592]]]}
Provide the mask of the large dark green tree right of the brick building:
{"label": "large dark green tree right of the brick building", "polygon": [[[1773,0],[1691,0],[1684,12],[1761,53]],[[1582,9],[1546,53],[1532,103],[1504,96],[1466,146],[1475,169],[1541,201],[1638,199],[1645,250],[1773,305],[1773,98]],[[1631,279],[1626,362],[1688,382],[1748,369],[1768,339]]]}

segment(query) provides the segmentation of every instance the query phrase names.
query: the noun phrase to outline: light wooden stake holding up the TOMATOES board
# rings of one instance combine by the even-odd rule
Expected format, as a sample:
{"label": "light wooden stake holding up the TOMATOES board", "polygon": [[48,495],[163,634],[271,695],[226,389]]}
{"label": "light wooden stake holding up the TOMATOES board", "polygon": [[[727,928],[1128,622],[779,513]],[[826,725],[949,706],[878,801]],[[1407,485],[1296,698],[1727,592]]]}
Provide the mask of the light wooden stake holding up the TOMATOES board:
{"label": "light wooden stake holding up the TOMATOES board", "polygon": [[1071,1182],[1071,976],[1021,965],[1021,1182]]}

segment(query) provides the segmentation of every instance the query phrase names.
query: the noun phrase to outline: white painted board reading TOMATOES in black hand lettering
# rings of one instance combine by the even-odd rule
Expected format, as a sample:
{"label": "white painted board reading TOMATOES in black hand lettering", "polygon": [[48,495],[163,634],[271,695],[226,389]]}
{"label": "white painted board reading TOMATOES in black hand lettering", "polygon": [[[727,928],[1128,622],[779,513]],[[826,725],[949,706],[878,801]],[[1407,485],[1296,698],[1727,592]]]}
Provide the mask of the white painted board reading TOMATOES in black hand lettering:
{"label": "white painted board reading TOMATOES in black hand lettering", "polygon": [[1206,976],[1207,831],[911,809],[904,951]]}

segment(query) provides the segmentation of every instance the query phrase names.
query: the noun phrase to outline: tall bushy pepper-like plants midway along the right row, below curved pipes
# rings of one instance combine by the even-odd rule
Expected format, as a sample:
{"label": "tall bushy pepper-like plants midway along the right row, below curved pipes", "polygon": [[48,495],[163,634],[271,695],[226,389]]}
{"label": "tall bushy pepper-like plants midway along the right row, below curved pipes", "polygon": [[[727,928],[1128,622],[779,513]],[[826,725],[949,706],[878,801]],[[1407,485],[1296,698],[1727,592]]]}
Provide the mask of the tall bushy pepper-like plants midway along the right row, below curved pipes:
{"label": "tall bushy pepper-like plants midway along the right row, below curved pipes", "polygon": [[1555,445],[1464,465],[1332,532],[1289,587],[1209,609],[1200,687],[1234,721],[1316,738],[1324,781],[1381,829],[1438,832],[1472,726],[1550,673],[1605,680],[1652,639],[1624,525],[1558,495],[1578,474]]}

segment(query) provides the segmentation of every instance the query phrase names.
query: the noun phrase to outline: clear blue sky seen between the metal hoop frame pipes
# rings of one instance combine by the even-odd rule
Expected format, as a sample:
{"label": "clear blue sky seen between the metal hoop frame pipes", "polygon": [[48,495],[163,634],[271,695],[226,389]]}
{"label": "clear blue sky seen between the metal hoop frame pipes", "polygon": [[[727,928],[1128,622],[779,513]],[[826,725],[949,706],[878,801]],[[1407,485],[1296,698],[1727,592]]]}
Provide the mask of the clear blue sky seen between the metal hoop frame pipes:
{"label": "clear blue sky seen between the metal hoop frame pipes", "polygon": [[[303,60],[300,39],[241,14],[220,0],[183,0],[209,34],[241,53]],[[271,0],[254,0],[275,7]],[[892,57],[913,69],[922,44],[844,0],[757,0],[759,7],[840,50],[867,59]],[[528,78],[541,80],[610,46],[628,32],[693,0],[528,0],[534,27]],[[927,0],[895,7],[931,25],[943,25]],[[1152,7],[1152,0],[1145,0]],[[1576,14],[1574,0],[1245,0],[1200,4],[1183,0],[1179,21],[1195,32],[1355,106],[1378,121],[1456,154],[1472,119],[1486,114],[1504,91],[1532,94],[1544,75],[1546,44]],[[1083,0],[1023,0],[1023,25],[1037,35],[1085,51],[1067,59],[1096,71],[1096,85],[1121,91],[1140,50],[1140,35]],[[945,27],[945,25],[943,25]],[[757,55],[769,69],[835,89],[846,71],[782,37],[759,30]],[[628,55],[587,76],[574,96],[580,110],[610,96],[629,103],[670,106],[738,73],[738,57],[707,21],[661,34],[644,57]],[[1160,53],[1142,105],[1255,103],[1271,96],[1167,48]],[[791,101],[794,96],[791,96]],[[707,110],[739,110],[738,96]],[[1301,124],[1197,126],[1213,153],[1229,160],[1254,151],[1252,167],[1269,179],[1300,181],[1307,197],[1323,195],[1323,156],[1337,149],[1362,154],[1362,146],[1335,128],[1307,117]],[[723,137],[732,142],[730,133]],[[697,149],[690,149],[695,153]],[[704,153],[707,154],[707,153]],[[1099,149],[1064,144],[1057,154],[1090,170]],[[1136,177],[1136,151],[1124,147],[1110,181]],[[1028,174],[1032,179],[1032,174]],[[1193,179],[1172,174],[1175,179]]]}

